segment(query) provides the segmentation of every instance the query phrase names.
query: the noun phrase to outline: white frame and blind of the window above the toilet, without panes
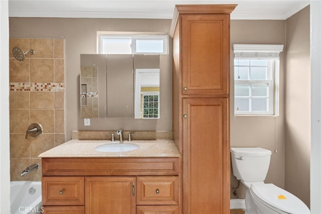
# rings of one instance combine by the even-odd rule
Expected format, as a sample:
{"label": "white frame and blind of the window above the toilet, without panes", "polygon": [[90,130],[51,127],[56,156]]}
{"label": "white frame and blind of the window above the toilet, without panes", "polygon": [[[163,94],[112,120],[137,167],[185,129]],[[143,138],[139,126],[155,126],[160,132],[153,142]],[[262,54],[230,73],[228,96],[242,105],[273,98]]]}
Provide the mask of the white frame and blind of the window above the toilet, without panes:
{"label": "white frame and blind of the window above the toilet, without panes", "polygon": [[[268,60],[268,78],[267,80],[237,80],[234,78],[234,86],[236,84],[268,84],[268,111],[236,111],[234,106],[234,115],[274,115],[278,116],[279,109],[279,53],[283,51],[283,45],[248,45],[234,44],[234,60],[236,59],[267,59]],[[234,66],[235,67],[235,66]],[[233,67],[233,71],[234,71]],[[250,66],[249,66],[250,67]],[[234,73],[234,72],[233,72]],[[257,96],[256,96],[257,97]],[[234,94],[234,98],[236,98]],[[252,96],[250,94],[250,101]],[[234,100],[235,105],[235,100]]]}

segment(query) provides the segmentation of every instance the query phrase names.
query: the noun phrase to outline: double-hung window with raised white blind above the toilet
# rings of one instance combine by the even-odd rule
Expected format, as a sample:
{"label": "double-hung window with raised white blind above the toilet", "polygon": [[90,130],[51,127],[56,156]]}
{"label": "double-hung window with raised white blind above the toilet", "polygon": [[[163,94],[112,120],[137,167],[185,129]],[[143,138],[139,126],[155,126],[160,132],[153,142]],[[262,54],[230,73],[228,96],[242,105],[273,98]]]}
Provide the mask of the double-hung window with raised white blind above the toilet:
{"label": "double-hung window with raised white blind above the toilet", "polygon": [[233,45],[234,114],[277,115],[283,45]]}

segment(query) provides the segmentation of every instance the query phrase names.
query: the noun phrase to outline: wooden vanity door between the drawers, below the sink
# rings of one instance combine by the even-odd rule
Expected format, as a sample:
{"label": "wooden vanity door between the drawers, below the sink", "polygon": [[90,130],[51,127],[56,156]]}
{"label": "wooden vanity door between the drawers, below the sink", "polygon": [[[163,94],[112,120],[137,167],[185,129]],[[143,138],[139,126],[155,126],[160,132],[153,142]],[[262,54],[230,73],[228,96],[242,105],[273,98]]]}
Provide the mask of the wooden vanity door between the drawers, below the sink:
{"label": "wooden vanity door between the drawers, below the sink", "polygon": [[136,177],[86,177],[86,214],[135,214]]}

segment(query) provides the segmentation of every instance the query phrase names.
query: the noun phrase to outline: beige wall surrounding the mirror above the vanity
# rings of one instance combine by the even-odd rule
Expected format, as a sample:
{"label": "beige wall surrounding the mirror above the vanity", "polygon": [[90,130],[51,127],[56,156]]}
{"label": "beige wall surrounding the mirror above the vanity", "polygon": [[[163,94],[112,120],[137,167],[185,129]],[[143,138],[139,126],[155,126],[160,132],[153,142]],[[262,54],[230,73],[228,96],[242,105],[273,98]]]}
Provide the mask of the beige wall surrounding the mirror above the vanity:
{"label": "beige wall surrounding the mirror above the vanity", "polygon": [[[10,38],[61,38],[66,41],[66,140],[74,130],[171,131],[172,54],[161,55],[161,119],[80,119],[80,54],[96,53],[97,31],[165,32],[171,20],[10,18]],[[170,41],[171,42],[171,41]],[[172,45],[170,44],[170,47]],[[170,48],[169,52],[172,52]]]}

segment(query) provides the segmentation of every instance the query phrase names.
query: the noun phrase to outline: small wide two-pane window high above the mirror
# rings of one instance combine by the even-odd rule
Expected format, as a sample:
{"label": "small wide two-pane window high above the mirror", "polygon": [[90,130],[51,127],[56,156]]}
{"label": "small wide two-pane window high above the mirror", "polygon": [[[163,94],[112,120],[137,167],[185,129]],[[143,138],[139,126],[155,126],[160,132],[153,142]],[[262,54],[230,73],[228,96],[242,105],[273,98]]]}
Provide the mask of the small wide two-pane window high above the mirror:
{"label": "small wide two-pane window high above the mirror", "polygon": [[168,35],[98,32],[98,50],[105,54],[168,54]]}

